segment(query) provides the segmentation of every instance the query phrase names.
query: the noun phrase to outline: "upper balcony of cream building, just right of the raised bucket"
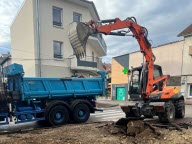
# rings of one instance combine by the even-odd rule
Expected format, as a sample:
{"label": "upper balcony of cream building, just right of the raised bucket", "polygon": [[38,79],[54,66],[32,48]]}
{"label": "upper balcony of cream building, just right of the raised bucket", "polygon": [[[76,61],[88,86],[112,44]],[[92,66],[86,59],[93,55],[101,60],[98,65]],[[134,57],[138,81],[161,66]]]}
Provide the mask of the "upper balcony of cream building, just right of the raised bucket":
{"label": "upper balcony of cream building, just right of the raised bucket", "polygon": [[100,57],[107,54],[107,45],[100,34],[93,34],[89,37],[88,43],[95,48]]}

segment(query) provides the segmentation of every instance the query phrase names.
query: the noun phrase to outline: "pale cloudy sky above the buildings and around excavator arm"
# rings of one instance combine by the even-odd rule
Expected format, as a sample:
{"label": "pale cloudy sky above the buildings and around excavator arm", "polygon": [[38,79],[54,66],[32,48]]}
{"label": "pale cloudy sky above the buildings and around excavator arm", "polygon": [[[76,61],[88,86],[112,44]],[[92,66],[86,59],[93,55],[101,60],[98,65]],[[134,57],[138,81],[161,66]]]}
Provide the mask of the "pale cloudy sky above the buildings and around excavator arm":
{"label": "pale cloudy sky above the buildings and around excavator arm", "polygon": [[[10,49],[10,25],[24,0],[0,0],[0,52]],[[152,45],[176,41],[177,35],[192,23],[192,0],[93,0],[101,19],[134,16],[149,31]],[[117,55],[139,50],[132,37],[104,37],[111,62]]]}

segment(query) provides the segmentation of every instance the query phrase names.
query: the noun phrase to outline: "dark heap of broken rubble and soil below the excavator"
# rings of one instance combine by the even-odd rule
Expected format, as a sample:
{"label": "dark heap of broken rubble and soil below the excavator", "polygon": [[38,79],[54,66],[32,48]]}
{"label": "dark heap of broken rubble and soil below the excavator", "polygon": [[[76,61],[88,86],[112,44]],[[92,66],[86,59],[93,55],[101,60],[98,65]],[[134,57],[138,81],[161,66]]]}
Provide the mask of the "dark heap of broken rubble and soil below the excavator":
{"label": "dark heap of broken rubble and soil below the excavator", "polygon": [[121,118],[116,123],[111,122],[98,126],[106,127],[108,126],[111,134],[123,133],[127,136],[136,136],[144,131],[151,130],[151,132],[157,136],[161,136],[160,129],[177,130],[183,131],[183,129],[188,129],[192,127],[192,122],[180,122],[180,123],[167,123],[162,124],[157,121],[147,121],[143,119],[133,119],[133,118]]}

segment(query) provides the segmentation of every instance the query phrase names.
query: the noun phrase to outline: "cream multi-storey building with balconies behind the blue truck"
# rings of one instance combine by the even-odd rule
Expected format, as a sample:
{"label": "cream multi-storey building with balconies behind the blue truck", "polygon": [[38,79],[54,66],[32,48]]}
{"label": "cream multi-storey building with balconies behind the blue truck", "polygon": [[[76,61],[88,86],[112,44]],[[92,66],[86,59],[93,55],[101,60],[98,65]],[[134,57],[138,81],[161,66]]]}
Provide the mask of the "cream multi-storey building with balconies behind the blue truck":
{"label": "cream multi-storey building with balconies behind the blue truck", "polygon": [[[53,8],[61,9],[61,26],[53,24]],[[26,76],[70,77],[74,72],[90,76],[101,69],[106,55],[102,37],[90,37],[87,56],[80,61],[69,42],[74,13],[82,22],[99,20],[92,2],[81,0],[26,0],[11,27],[12,61],[24,66]],[[54,58],[54,41],[62,43],[62,58]],[[93,67],[94,65],[94,67]]]}

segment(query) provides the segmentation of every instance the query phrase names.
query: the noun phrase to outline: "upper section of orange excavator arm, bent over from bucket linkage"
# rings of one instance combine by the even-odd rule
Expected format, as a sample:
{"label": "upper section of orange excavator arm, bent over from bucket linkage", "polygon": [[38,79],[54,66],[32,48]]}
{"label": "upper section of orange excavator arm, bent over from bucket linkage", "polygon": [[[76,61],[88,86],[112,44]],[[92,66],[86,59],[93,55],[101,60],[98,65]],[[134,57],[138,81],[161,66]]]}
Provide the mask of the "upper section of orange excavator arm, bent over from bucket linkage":
{"label": "upper section of orange excavator arm, bent over from bucket linkage", "polygon": [[126,36],[127,33],[125,31],[113,31],[128,28],[133,33],[132,36],[137,39],[140,45],[140,51],[144,54],[146,61],[154,61],[151,44],[147,39],[147,29],[138,25],[132,18],[128,18],[124,21],[121,21],[119,18],[103,20],[101,22],[90,21],[87,25],[90,26],[94,33],[116,36]]}

